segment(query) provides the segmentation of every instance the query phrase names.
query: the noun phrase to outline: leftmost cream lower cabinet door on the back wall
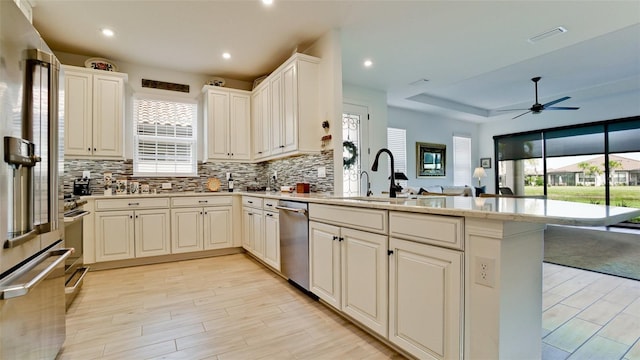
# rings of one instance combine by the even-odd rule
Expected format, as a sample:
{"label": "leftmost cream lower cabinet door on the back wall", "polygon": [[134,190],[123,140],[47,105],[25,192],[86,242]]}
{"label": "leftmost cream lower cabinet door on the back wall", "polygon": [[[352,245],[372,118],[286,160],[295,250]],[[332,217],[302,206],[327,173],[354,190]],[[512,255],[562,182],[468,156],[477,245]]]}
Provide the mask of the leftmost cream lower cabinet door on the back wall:
{"label": "leftmost cream lower cabinet door on the back wall", "polygon": [[135,256],[133,211],[97,212],[95,221],[96,261]]}

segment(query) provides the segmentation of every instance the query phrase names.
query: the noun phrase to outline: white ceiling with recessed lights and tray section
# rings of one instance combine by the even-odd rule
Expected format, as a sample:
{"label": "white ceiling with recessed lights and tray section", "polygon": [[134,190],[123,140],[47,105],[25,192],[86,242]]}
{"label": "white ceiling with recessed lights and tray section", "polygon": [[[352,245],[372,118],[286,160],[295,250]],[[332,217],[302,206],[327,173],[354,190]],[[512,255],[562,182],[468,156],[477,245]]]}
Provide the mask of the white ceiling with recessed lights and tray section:
{"label": "white ceiling with recessed lights and tray section", "polygon": [[[344,82],[386,91],[392,106],[475,122],[529,108],[534,76],[541,103],[572,97],[557,106],[640,94],[637,0],[37,0],[33,14],[54,50],[244,81],[339,29]],[[527,41],[558,26],[568,31]],[[410,85],[419,79],[429,81]],[[629,105],[640,113],[639,104],[640,95]]]}

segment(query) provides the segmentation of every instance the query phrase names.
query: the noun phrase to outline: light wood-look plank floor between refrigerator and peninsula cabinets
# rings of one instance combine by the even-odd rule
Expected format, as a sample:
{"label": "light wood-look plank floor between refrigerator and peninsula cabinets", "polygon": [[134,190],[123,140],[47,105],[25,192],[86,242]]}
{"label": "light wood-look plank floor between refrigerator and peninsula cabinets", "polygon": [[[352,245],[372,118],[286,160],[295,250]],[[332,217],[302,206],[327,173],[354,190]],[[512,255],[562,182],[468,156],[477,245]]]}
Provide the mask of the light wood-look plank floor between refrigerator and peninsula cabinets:
{"label": "light wood-look plank floor between refrigerator and peninsula cabinets", "polygon": [[402,358],[247,255],[90,272],[58,359]]}

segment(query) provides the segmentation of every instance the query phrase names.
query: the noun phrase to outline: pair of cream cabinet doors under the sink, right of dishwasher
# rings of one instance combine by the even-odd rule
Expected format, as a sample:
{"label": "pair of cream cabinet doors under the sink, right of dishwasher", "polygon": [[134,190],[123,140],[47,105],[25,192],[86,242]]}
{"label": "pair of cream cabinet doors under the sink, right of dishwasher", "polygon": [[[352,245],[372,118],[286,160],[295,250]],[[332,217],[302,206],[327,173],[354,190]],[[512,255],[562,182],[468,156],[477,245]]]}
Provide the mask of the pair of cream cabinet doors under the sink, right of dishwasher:
{"label": "pair of cream cabinet doors under the sink, right of dishwasher", "polygon": [[309,222],[311,292],[387,336],[387,236]]}

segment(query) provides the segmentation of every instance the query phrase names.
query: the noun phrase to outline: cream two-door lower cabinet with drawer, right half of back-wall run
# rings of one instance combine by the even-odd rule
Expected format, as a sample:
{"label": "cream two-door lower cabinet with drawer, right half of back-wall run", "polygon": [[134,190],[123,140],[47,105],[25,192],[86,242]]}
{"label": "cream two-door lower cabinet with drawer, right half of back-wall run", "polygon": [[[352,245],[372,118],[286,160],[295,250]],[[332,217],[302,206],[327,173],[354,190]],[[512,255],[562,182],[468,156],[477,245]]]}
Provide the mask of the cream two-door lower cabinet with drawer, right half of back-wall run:
{"label": "cream two-door lower cabinet with drawer, right half of back-wall run", "polygon": [[[171,252],[224,249],[233,246],[231,196],[171,199]],[[199,207],[194,207],[200,205]]]}

